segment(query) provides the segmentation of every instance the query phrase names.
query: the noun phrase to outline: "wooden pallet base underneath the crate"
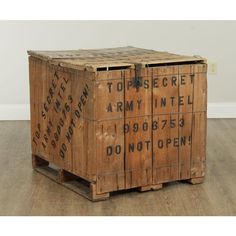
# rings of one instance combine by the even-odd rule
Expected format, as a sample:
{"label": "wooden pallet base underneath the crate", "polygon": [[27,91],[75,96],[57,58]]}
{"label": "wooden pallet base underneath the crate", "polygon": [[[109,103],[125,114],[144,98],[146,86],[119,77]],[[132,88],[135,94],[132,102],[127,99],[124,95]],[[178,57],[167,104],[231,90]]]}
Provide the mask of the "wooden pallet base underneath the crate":
{"label": "wooden pallet base underneath the crate", "polygon": [[[47,176],[53,181],[74,191],[75,193],[91,201],[106,200],[110,197],[110,193],[97,194],[95,182],[88,182],[77,175],[74,175],[64,169],[50,166],[49,164],[50,163],[48,161],[36,155],[32,155],[32,165],[37,172]],[[192,178],[183,181],[191,184],[200,184],[204,181],[204,177]],[[138,190],[140,192],[146,192],[150,190],[158,190],[161,189],[162,187],[163,184],[159,183],[159,184],[141,186],[138,188]]]}

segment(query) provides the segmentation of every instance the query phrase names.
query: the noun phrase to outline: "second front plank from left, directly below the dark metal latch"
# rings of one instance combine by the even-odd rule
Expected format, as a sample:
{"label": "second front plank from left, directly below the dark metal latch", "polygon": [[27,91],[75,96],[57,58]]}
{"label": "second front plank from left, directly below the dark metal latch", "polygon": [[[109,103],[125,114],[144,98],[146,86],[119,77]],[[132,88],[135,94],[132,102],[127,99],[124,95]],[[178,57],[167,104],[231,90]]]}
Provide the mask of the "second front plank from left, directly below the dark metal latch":
{"label": "second front plank from left, directly below the dark metal latch", "polygon": [[125,75],[125,187],[134,188],[152,184],[152,88],[147,69]]}

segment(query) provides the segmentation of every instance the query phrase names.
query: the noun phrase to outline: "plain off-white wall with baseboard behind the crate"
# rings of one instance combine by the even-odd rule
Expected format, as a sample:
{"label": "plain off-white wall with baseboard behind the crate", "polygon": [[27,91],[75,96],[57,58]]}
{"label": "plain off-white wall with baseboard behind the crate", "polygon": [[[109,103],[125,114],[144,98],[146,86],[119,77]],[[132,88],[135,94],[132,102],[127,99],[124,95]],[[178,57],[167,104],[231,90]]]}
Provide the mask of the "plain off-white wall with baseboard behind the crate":
{"label": "plain off-white wall with baseboard behind the crate", "polygon": [[27,50],[126,45],[216,62],[209,117],[236,117],[236,21],[0,21],[0,119],[29,118]]}

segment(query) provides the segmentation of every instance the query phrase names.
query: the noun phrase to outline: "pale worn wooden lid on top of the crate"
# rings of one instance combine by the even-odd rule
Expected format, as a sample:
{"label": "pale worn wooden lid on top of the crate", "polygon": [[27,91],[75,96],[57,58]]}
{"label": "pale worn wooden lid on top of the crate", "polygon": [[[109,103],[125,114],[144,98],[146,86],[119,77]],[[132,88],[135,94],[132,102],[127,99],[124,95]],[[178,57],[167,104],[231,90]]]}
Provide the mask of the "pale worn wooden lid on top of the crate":
{"label": "pale worn wooden lid on top of the crate", "polygon": [[177,55],[131,46],[67,51],[28,51],[28,54],[61,66],[94,71],[129,68],[136,64],[148,67],[159,64],[205,62],[205,59],[200,56]]}

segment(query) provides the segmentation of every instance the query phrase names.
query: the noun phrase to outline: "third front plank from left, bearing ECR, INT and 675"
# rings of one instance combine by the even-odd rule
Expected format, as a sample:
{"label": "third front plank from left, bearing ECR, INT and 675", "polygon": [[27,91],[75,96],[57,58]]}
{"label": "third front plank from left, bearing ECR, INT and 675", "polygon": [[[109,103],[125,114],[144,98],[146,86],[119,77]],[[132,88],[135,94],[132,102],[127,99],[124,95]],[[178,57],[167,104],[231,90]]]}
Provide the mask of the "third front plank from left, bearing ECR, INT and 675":
{"label": "third front plank from left, bearing ECR, INT and 675", "polygon": [[153,183],[179,178],[178,66],[153,69]]}

